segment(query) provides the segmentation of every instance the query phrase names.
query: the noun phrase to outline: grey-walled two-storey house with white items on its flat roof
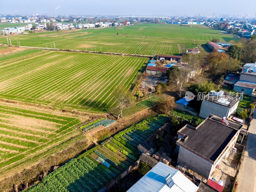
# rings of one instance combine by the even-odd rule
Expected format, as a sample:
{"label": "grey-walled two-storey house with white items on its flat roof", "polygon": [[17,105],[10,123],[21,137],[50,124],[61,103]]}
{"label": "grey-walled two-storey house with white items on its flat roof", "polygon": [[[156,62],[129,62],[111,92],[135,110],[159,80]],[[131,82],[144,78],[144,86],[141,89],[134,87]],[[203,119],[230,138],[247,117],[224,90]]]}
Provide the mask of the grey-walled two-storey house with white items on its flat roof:
{"label": "grey-walled two-storey house with white items on its flat roof", "polygon": [[225,93],[224,91],[210,92],[202,100],[199,116],[207,118],[211,113],[227,117],[236,112],[240,97]]}

